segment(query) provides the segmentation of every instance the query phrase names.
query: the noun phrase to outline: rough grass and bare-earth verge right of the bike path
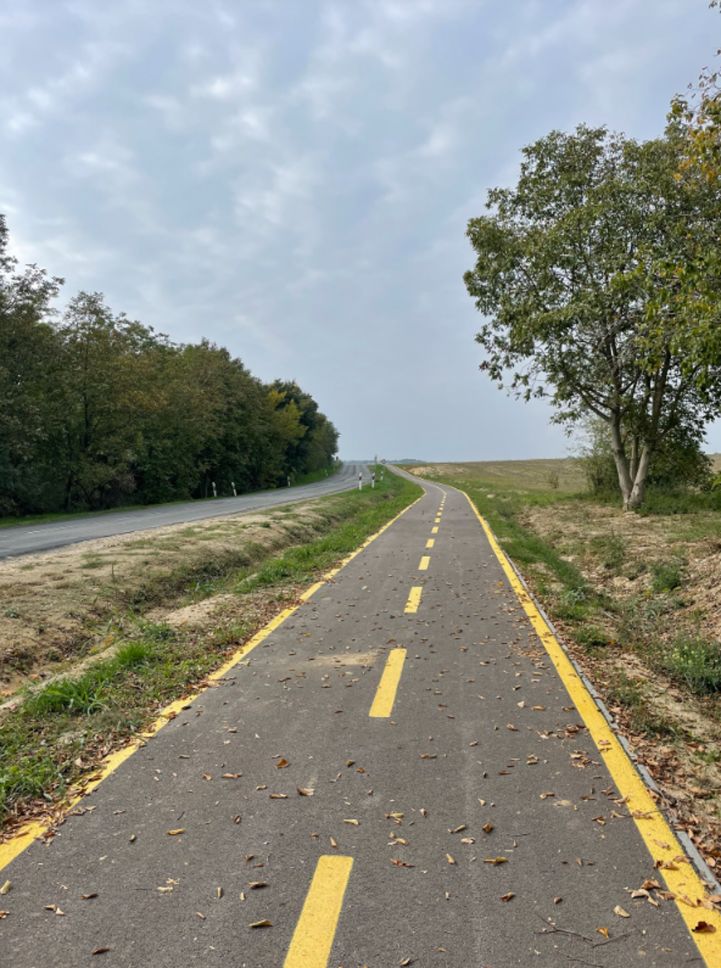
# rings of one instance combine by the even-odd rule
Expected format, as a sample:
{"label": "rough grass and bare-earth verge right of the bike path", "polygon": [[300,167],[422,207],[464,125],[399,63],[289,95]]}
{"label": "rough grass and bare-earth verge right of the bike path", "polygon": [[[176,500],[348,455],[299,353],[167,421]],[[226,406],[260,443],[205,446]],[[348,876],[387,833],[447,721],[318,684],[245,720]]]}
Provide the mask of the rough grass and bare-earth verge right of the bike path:
{"label": "rough grass and bare-earth verge right of the bike path", "polygon": [[719,495],[652,493],[624,514],[574,460],[420,473],[468,493],[721,870]]}

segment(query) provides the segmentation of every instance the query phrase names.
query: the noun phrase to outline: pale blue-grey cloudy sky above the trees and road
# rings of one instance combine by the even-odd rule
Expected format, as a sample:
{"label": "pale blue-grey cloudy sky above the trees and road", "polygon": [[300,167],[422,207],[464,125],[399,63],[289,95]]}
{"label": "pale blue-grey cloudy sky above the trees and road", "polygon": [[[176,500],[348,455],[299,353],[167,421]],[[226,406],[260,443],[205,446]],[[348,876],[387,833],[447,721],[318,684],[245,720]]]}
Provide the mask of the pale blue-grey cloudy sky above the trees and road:
{"label": "pale blue-grey cloudy sky above the trees and road", "polygon": [[552,128],[658,134],[720,26],[706,0],[0,0],[0,211],[69,293],[297,379],[346,457],[563,455],[478,371],[465,224]]}

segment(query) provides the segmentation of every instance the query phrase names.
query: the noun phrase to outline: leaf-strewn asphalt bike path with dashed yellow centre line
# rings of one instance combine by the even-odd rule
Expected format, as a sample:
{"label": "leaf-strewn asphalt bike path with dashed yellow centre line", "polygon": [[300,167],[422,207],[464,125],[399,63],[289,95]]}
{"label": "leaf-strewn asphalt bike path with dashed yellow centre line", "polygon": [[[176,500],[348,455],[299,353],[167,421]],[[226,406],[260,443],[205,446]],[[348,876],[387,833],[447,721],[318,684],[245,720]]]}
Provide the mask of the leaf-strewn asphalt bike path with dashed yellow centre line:
{"label": "leaf-strewn asphalt bike path with dashed yellow centre line", "polygon": [[6,868],[0,964],[704,963],[631,898],[661,875],[467,501],[424,487]]}

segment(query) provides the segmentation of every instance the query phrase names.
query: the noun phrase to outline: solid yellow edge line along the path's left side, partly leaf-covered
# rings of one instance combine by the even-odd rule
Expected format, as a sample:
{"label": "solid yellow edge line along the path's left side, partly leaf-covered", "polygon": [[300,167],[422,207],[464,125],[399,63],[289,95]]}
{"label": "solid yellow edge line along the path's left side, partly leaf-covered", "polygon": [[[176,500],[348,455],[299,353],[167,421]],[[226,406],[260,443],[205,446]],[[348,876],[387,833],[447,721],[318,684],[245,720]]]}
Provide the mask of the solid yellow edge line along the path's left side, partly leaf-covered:
{"label": "solid yellow edge line along the path's left side, partly leaf-covered", "polygon": [[[296,612],[300,608],[302,602],[307,602],[311,595],[315,594],[319,588],[322,588],[327,582],[332,581],[332,579],[335,578],[342,568],[345,568],[349,562],[357,557],[362,551],[365,551],[371,542],[375,541],[376,538],[379,538],[384,531],[387,531],[388,528],[395,524],[396,521],[406,513],[406,511],[410,511],[410,509],[424,496],[424,494],[421,494],[420,497],[417,497],[415,501],[404,507],[403,510],[396,514],[395,517],[391,518],[390,521],[387,521],[382,528],[379,528],[378,531],[366,538],[363,544],[356,548],[355,551],[351,552],[351,554],[347,555],[336,568],[332,568],[330,571],[327,571],[320,581],[315,582],[313,585],[307,588],[303,594],[299,596],[300,602],[297,605],[284,608],[283,611],[276,615],[275,618],[271,619],[267,625],[264,625],[262,629],[256,632],[252,638],[248,639],[244,645],[241,645],[239,649],[236,649],[236,651],[233,652],[233,654],[229,656],[228,659],[226,659],[226,661],[219,666],[219,668],[215,669],[208,676],[206,676],[206,679],[210,682],[216,682],[218,679],[222,679],[223,676],[225,676],[234,665],[240,662],[240,660],[248,655],[249,652],[252,652],[256,646],[260,645],[264,639],[267,639],[268,636],[280,625],[282,625],[287,618]],[[100,786],[103,780],[107,779],[111,773],[114,773],[115,770],[117,770],[117,768],[125,762],[125,760],[131,757],[133,753],[135,753],[141,747],[145,746],[146,739],[151,739],[153,736],[155,736],[156,733],[158,733],[163,726],[167,725],[171,719],[174,719],[181,710],[195,702],[195,700],[206,691],[206,688],[198,689],[196,692],[183,696],[181,699],[176,699],[174,702],[171,702],[169,705],[165,706],[165,708],[158,713],[157,718],[147,729],[143,730],[138,736],[133,738],[126,746],[123,746],[121,749],[116,750],[114,753],[110,753],[108,756],[106,756],[105,759],[103,759],[98,765],[98,768],[94,770],[87,779],[80,781],[80,783],[68,791],[66,800],[61,805],[62,815],[67,816],[67,814],[70,813],[70,811],[72,811],[73,808],[76,807],[85,796],[87,796],[89,793],[92,793],[93,790]],[[15,860],[16,857],[22,854],[22,852],[26,850],[34,840],[37,840],[38,837],[43,837],[45,834],[47,834],[49,830],[57,825],[57,823],[57,816],[52,821],[33,820],[21,827],[17,833],[14,833],[7,840],[0,843],[0,871],[4,867],[7,867],[7,865],[11,861]]]}

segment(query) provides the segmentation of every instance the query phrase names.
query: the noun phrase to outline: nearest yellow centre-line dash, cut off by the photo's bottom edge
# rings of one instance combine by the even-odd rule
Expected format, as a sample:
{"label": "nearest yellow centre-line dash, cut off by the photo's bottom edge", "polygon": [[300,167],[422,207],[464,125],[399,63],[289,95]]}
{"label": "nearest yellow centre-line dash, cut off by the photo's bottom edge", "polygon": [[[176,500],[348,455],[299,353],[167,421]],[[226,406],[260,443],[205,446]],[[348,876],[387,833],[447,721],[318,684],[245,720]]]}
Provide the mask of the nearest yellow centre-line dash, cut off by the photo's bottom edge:
{"label": "nearest yellow centre-line dash, cut off by the photo's bottom edge", "polygon": [[327,968],[352,857],[318,859],[283,968]]}

